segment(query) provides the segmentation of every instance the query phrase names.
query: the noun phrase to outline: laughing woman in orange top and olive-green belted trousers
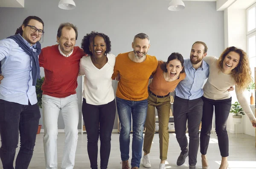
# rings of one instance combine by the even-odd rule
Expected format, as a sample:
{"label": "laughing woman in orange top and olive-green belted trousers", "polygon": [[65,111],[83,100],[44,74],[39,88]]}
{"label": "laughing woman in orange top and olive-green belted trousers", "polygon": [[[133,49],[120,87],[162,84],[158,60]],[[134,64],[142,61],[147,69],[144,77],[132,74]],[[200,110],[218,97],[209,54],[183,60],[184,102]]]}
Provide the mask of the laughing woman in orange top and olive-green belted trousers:
{"label": "laughing woman in orange top and olive-green belted trousers", "polygon": [[155,107],[157,108],[159,120],[160,139],[160,166],[165,169],[167,151],[169,145],[169,115],[171,109],[170,92],[174,91],[178,83],[185,79],[186,73],[183,68],[183,56],[179,53],[172,53],[167,62],[158,61],[157,71],[148,88],[148,113],[145,121],[145,138],[143,144],[143,166],[151,167],[148,154],[155,132]]}

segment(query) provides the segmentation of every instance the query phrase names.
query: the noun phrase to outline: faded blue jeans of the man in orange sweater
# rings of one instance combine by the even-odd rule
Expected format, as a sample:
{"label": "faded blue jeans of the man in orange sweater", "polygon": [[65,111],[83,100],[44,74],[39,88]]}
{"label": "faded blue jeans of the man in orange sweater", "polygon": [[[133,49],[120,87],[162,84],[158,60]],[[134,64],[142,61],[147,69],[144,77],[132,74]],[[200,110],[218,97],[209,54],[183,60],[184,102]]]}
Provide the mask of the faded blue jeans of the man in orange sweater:
{"label": "faded blue jeans of the man in orange sweater", "polygon": [[119,144],[122,161],[129,160],[131,118],[132,118],[132,158],[131,167],[140,168],[143,145],[143,128],[148,111],[148,99],[131,101],[116,97],[116,107],[121,124]]}

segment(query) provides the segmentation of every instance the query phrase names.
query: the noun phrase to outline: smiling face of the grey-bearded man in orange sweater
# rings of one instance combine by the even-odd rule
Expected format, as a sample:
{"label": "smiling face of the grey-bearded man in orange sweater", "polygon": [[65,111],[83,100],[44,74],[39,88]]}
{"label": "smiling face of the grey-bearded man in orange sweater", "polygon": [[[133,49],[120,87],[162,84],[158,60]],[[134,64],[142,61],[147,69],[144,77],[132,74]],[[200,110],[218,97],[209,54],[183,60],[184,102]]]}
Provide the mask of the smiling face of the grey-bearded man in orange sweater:
{"label": "smiling face of the grey-bearded man in orange sweater", "polygon": [[134,54],[136,59],[143,59],[148,53],[148,49],[150,44],[148,43],[148,39],[140,39],[135,38],[134,42],[132,42],[132,48],[134,49]]}

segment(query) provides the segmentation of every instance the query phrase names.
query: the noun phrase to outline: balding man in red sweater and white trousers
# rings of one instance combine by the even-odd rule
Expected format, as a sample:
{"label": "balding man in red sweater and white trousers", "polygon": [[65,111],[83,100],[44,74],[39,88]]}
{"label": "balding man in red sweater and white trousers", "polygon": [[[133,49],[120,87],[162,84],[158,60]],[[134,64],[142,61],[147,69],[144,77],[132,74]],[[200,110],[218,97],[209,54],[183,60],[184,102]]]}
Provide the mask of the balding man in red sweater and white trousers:
{"label": "balding man in red sweater and white trousers", "polygon": [[78,140],[79,109],[76,97],[79,62],[84,51],[75,46],[78,31],[71,23],[58,28],[58,45],[43,48],[39,64],[44,68],[42,108],[44,124],[44,156],[47,169],[58,169],[58,115],[65,124],[65,145],[61,169],[73,169]]}

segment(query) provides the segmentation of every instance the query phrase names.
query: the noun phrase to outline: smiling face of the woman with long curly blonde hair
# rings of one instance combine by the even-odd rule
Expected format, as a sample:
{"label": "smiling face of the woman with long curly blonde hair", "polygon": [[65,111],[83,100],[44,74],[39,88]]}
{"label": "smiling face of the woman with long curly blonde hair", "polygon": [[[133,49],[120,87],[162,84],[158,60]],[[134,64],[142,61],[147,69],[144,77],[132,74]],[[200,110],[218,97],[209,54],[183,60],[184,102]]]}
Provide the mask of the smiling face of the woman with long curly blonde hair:
{"label": "smiling face of the woman with long curly blonde hair", "polygon": [[225,56],[222,68],[225,72],[231,72],[234,68],[236,68],[239,64],[240,56],[236,52],[229,52],[227,56]]}

